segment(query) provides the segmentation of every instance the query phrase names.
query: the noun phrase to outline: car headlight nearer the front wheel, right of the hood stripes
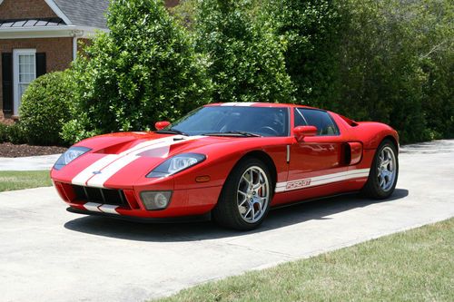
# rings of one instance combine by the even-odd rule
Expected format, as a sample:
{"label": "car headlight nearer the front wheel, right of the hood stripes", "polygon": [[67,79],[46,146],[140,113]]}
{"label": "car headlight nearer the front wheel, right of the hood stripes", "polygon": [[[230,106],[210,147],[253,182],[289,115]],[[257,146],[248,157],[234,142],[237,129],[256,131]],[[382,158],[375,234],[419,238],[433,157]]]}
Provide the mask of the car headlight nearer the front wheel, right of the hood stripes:
{"label": "car headlight nearer the front wheel, right of the hood stripes", "polygon": [[205,161],[206,156],[198,153],[183,153],[173,156],[154,168],[146,177],[165,177],[186,170],[199,162]]}

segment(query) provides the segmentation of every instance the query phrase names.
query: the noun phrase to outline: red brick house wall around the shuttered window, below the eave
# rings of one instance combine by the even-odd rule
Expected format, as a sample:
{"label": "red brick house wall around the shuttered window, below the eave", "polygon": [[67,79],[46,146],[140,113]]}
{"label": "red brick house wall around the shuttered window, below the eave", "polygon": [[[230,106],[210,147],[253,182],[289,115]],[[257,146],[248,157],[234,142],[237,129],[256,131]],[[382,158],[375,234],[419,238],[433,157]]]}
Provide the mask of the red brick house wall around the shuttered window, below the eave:
{"label": "red brick house wall around the shuttered window, below the eave", "polygon": [[[13,53],[13,49],[32,48],[36,53],[45,53],[46,72],[61,71],[73,61],[73,38],[11,39],[0,40],[0,57],[2,53]],[[0,60],[0,71],[2,70]],[[0,122],[10,116],[3,113],[2,73],[0,72]]]}

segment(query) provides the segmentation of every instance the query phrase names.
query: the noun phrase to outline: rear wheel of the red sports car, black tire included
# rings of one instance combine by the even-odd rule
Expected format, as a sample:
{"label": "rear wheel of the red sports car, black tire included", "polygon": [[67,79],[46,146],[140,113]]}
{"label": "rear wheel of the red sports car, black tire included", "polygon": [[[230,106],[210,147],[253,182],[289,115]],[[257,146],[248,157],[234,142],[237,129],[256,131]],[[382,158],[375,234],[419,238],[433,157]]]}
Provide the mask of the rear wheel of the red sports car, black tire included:
{"label": "rear wheel of the red sports car, black tire included", "polygon": [[398,176],[399,158],[396,146],[390,140],[381,141],[362,193],[375,200],[387,199],[396,188]]}

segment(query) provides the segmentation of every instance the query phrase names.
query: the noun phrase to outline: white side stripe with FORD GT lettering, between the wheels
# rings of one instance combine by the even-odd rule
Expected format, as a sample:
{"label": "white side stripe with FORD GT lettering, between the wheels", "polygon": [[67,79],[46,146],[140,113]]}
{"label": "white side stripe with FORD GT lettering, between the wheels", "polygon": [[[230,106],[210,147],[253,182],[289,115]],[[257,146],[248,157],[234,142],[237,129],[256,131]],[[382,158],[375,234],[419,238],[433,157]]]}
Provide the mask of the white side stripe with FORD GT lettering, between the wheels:
{"label": "white side stripe with FORD GT lettering, between the wheels", "polygon": [[370,169],[348,170],[344,172],[326,174],[301,180],[278,182],[276,184],[275,192],[279,193],[289,190],[299,190],[343,180],[364,178],[369,176],[369,171]]}

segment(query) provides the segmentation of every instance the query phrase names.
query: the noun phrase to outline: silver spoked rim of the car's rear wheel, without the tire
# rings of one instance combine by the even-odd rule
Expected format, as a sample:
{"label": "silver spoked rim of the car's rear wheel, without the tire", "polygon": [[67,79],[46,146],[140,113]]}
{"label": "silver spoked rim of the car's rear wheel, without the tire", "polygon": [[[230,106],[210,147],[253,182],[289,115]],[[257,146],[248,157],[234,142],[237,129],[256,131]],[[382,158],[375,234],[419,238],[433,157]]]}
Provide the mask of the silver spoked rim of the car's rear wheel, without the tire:
{"label": "silver spoked rim of the car's rear wheel, without the tire", "polygon": [[396,155],[389,146],[386,146],[380,151],[379,161],[377,162],[377,177],[381,190],[391,190],[396,174]]}

